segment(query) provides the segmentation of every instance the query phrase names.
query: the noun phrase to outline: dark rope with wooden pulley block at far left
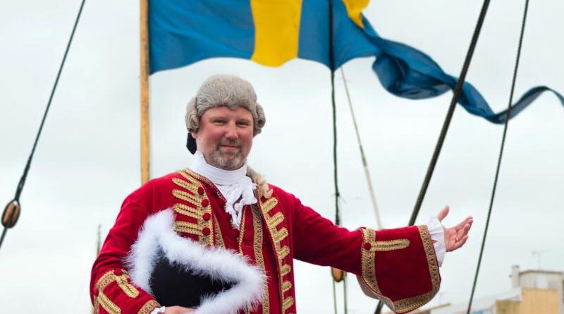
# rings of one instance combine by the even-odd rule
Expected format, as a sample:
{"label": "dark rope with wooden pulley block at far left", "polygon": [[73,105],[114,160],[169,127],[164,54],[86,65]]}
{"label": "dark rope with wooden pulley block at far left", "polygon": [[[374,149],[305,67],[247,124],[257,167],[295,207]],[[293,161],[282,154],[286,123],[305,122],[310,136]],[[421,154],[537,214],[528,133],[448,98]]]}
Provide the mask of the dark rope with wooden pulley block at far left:
{"label": "dark rope with wooden pulley block at far left", "polygon": [[80,4],[80,8],[78,10],[78,14],[75,19],[75,24],[73,26],[73,31],[71,32],[71,37],[68,39],[68,43],[66,45],[65,54],[63,55],[63,61],[61,61],[61,66],[59,66],[59,72],[55,78],[55,83],[53,88],[51,89],[51,95],[49,95],[49,101],[47,102],[47,107],[45,108],[43,119],[41,120],[41,124],[39,125],[39,131],[37,131],[37,135],[35,136],[35,142],[33,143],[33,147],[30,153],[30,156],[27,158],[27,163],[25,164],[25,168],[23,169],[23,174],[20,178],[18,183],[18,187],[16,188],[16,193],[14,194],[13,199],[8,202],[6,207],[4,208],[4,212],[2,214],[2,225],[4,226],[4,231],[2,231],[2,236],[0,237],[0,248],[2,243],[4,242],[4,238],[6,237],[6,233],[8,229],[14,227],[16,222],[18,222],[18,218],[20,215],[20,196],[23,191],[23,187],[25,186],[25,179],[27,179],[27,174],[31,168],[31,162],[33,159],[33,155],[35,155],[35,148],[37,147],[37,143],[39,142],[39,136],[43,131],[43,126],[45,123],[45,119],[47,119],[47,114],[49,113],[49,108],[51,107],[51,102],[53,101],[53,97],[55,95],[55,90],[57,85],[59,84],[59,78],[61,78],[61,72],[63,71],[63,66],[65,65],[66,56],[68,55],[68,50],[71,48],[71,43],[73,42],[73,37],[75,35],[76,27],[78,25],[78,20],[80,20],[80,15],[82,14],[82,8],[84,8],[85,0],[82,0]]}

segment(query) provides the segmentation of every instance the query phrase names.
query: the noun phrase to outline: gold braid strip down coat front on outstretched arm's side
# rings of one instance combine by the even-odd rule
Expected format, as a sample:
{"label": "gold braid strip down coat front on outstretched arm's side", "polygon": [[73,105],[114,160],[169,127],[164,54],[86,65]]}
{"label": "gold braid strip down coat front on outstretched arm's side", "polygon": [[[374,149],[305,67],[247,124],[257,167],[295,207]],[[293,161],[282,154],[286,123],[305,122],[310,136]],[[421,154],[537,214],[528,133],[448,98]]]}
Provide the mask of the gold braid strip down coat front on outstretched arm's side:
{"label": "gold braid strip down coat front on outstretched arm's side", "polygon": [[272,236],[272,240],[274,242],[274,250],[276,251],[276,257],[278,258],[278,267],[280,269],[280,296],[282,298],[282,313],[284,313],[288,308],[292,307],[294,304],[294,298],[288,296],[288,298],[284,298],[284,292],[291,289],[291,284],[288,286],[284,281],[283,277],[286,274],[290,273],[292,269],[290,265],[284,263],[284,258],[290,254],[290,248],[288,246],[281,246],[281,241],[288,237],[288,229],[281,228],[278,230],[278,225],[284,222],[284,215],[282,212],[276,212],[274,215],[269,215],[269,212],[278,205],[278,199],[275,197],[270,197],[262,202],[262,195],[261,191],[259,191],[259,204],[262,209],[262,215],[264,216],[264,220],[266,221],[266,226],[268,227],[270,234]]}

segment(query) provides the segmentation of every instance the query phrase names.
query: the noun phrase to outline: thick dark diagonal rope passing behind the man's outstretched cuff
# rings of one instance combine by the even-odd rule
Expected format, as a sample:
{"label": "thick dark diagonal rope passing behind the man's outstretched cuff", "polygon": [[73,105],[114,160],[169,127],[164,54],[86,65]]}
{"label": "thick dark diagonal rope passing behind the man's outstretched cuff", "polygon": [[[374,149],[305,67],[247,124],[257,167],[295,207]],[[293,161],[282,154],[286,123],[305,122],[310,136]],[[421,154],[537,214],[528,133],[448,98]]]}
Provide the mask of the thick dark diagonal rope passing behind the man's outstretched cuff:
{"label": "thick dark diagonal rope passing behind the man's outstretched cuff", "polygon": [[[427,193],[427,188],[429,187],[429,182],[431,181],[431,176],[433,176],[433,171],[436,166],[436,162],[439,159],[439,155],[441,154],[441,148],[443,147],[444,140],[446,138],[446,133],[448,132],[448,127],[450,126],[450,121],[453,118],[454,109],[456,104],[458,103],[458,99],[460,98],[460,94],[462,92],[462,83],[466,78],[466,73],[468,72],[468,68],[470,68],[470,61],[472,61],[472,56],[474,55],[474,49],[476,49],[476,44],[478,42],[478,38],[480,35],[480,31],[482,30],[482,25],[484,24],[484,19],[486,18],[486,13],[488,11],[489,0],[484,0],[482,4],[482,11],[480,11],[480,15],[478,17],[478,21],[476,27],[474,28],[474,34],[472,35],[472,40],[470,41],[470,47],[468,47],[468,51],[464,60],[464,64],[462,65],[462,71],[460,72],[460,76],[458,77],[458,81],[456,82],[456,86],[453,92],[453,98],[450,100],[450,106],[448,107],[448,111],[445,117],[445,121],[443,123],[443,127],[441,128],[441,134],[439,135],[439,140],[437,140],[435,150],[433,152],[433,156],[431,157],[431,162],[429,163],[429,168],[427,169],[427,174],[425,174],[425,179],[423,181],[423,185],[421,190],[419,191],[419,196],[417,196],[417,202],[415,203],[415,208],[410,217],[409,226],[413,226],[415,224],[415,220],[417,219],[417,215],[419,215],[419,210],[423,203],[423,198],[425,197],[425,193]],[[378,302],[378,306],[376,306],[376,310],[374,311],[375,314],[380,314],[384,303],[382,301]]]}

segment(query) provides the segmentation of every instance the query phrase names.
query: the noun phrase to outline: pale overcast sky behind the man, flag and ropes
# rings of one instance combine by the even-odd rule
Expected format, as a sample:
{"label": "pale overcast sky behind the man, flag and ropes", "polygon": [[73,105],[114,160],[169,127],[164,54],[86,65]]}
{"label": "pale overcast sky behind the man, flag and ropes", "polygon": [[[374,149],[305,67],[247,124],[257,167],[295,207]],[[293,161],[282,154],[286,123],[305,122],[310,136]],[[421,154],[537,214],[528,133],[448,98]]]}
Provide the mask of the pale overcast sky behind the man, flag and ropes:
{"label": "pale overcast sky behind the man, flag and ropes", "polygon": [[[495,111],[507,106],[524,1],[492,1],[467,79]],[[0,11],[0,203],[13,197],[56,77],[78,0],[7,1]],[[422,49],[458,75],[481,1],[372,1],[365,15],[384,37]],[[140,184],[137,1],[87,1],[21,197],[23,212],[0,250],[2,312],[89,313],[97,225],[105,236],[121,201]],[[515,99],[534,85],[564,91],[564,2],[532,1]],[[385,227],[401,227],[421,186],[452,93],[421,101],[389,95],[370,66],[345,64]],[[210,59],[151,78],[152,176],[187,167],[185,104],[214,73],[255,86],[266,111],[249,164],[333,219],[329,70],[294,60],[266,68]],[[336,75],[343,224],[375,227],[343,80]],[[511,265],[564,270],[564,108],[539,97],[509,125],[477,296],[510,289]],[[417,220],[444,205],[446,224],[468,215],[466,246],[441,267],[431,305],[466,302],[494,180],[503,126],[455,111]],[[296,265],[300,313],[332,313],[329,269]],[[349,313],[376,304],[349,282]],[[341,291],[341,286],[338,287]],[[340,301],[341,302],[341,301]],[[340,306],[341,307],[341,306]]]}

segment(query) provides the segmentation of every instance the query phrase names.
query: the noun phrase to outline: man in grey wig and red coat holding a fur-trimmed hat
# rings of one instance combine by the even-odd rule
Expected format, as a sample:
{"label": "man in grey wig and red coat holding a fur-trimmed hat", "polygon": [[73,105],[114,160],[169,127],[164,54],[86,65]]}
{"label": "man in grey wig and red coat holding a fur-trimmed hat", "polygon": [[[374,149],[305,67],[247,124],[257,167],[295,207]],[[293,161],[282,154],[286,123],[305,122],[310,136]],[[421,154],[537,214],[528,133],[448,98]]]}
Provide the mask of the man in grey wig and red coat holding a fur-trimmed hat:
{"label": "man in grey wig and red coat holding a fur-trimmed hat", "polygon": [[92,267],[96,313],[295,314],[293,259],[357,275],[396,313],[439,291],[472,218],[400,229],[337,227],[247,167],[265,123],[250,83],[212,76],[188,104],[189,168],[125,199]]}

